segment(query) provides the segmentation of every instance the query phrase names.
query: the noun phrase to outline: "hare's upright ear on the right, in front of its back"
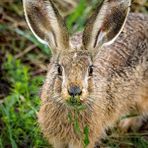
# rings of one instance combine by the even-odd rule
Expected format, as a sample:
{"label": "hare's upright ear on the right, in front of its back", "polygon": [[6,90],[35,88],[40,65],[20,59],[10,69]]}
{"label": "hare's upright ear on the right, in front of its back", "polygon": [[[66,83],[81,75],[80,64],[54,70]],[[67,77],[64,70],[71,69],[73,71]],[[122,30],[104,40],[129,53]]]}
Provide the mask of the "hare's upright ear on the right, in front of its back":
{"label": "hare's upright ear on the right, in front of its back", "polygon": [[93,50],[115,41],[124,27],[130,5],[130,0],[104,0],[86,24],[84,47]]}

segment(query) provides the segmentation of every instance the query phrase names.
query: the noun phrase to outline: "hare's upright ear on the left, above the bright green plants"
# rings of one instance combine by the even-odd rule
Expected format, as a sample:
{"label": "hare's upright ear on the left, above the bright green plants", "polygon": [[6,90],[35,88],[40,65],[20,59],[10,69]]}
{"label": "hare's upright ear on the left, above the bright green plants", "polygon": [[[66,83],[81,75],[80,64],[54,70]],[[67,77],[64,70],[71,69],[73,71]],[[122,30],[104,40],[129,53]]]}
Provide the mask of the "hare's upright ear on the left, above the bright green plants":
{"label": "hare's upright ear on the left, above the bright green plants", "polygon": [[53,52],[69,48],[69,34],[52,0],[23,0],[26,21],[42,43]]}

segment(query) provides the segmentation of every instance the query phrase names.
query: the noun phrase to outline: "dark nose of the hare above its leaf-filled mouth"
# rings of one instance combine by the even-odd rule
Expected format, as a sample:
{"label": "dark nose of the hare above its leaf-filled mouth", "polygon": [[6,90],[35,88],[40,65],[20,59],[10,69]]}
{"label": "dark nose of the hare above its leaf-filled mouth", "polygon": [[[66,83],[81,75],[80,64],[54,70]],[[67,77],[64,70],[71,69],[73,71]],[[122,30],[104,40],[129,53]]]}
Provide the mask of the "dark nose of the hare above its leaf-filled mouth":
{"label": "dark nose of the hare above its leaf-filled mouth", "polygon": [[78,86],[71,86],[68,90],[70,96],[80,96],[82,94],[82,90]]}

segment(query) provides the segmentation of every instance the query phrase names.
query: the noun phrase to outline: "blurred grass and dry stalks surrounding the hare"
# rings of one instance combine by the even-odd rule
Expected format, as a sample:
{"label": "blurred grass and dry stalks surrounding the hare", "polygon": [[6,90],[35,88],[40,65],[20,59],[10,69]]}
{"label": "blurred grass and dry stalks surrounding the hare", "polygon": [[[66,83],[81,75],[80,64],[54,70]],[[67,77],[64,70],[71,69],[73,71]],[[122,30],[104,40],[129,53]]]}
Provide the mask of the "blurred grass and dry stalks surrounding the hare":
{"label": "blurred grass and dry stalks surrounding the hare", "polygon": [[[69,32],[82,31],[101,0],[53,0]],[[148,13],[147,0],[134,0],[132,12]],[[21,0],[0,0],[0,148],[51,147],[42,137],[37,111],[50,49],[32,35]],[[146,124],[147,126],[147,124]],[[148,127],[120,134],[110,131],[102,147],[148,148]]]}

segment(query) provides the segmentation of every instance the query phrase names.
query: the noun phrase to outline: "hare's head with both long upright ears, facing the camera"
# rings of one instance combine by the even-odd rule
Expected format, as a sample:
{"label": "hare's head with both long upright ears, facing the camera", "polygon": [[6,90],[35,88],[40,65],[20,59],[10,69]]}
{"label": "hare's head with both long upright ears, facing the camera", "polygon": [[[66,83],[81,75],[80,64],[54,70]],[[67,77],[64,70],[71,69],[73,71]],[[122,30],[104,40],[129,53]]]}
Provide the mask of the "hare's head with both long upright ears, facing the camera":
{"label": "hare's head with both long upright ears, facing the camera", "polygon": [[79,47],[71,45],[64,20],[52,0],[23,1],[31,31],[52,50],[47,76],[50,82],[46,87],[62,101],[79,96],[80,101],[87,102],[95,87],[95,56],[102,46],[111,44],[120,34],[130,0],[104,0],[88,20]]}

